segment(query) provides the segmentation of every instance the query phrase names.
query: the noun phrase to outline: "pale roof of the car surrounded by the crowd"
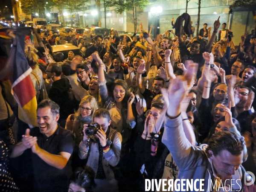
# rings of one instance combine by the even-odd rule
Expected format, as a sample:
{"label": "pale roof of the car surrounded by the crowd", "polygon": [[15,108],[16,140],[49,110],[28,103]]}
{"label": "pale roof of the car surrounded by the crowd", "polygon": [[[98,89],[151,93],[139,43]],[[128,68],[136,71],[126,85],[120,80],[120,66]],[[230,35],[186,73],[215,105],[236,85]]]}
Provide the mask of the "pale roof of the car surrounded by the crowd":
{"label": "pale roof of the car surrounded by the crowd", "polygon": [[62,52],[64,55],[64,59],[67,59],[68,56],[68,52],[69,51],[73,51],[75,55],[80,55],[81,57],[85,57],[84,52],[81,51],[81,49],[79,49],[78,47],[74,46],[74,45],[53,45],[52,46],[52,52],[56,53],[56,52]]}

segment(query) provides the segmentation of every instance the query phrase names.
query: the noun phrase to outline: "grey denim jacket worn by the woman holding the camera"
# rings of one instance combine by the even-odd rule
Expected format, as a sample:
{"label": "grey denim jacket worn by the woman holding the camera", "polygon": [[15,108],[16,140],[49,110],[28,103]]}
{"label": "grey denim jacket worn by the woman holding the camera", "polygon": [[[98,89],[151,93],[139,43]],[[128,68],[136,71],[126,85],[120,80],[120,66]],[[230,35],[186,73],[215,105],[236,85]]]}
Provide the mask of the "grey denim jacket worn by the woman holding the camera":
{"label": "grey denim jacket worn by the woman holding the camera", "polygon": [[[111,166],[116,166],[119,163],[121,155],[121,143],[122,136],[116,130],[110,128],[110,132],[107,138],[107,144],[110,146],[110,150],[107,153],[103,153],[103,169],[107,180],[114,179],[114,173]],[[93,140],[93,139],[91,139]],[[86,159],[87,166],[90,166],[95,173],[97,173],[99,166],[99,143],[90,141],[89,145],[85,145],[82,141],[79,145],[79,157],[80,159]]]}

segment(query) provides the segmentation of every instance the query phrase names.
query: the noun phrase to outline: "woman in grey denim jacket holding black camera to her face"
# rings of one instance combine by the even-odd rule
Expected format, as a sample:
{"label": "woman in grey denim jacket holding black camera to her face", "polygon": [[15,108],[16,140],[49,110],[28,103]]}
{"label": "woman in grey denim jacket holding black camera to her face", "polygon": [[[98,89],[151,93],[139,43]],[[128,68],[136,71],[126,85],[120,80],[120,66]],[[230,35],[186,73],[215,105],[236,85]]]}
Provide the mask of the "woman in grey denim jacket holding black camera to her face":
{"label": "woman in grey denim jacket holding black camera to her face", "polygon": [[[117,181],[111,167],[120,160],[122,136],[112,129],[111,116],[104,108],[93,114],[93,125],[84,125],[84,137],[79,145],[79,157],[87,159],[87,166],[96,173],[94,192],[118,192]],[[90,129],[90,131],[86,131]],[[95,130],[95,131],[94,131]],[[86,135],[88,132],[93,135]]]}

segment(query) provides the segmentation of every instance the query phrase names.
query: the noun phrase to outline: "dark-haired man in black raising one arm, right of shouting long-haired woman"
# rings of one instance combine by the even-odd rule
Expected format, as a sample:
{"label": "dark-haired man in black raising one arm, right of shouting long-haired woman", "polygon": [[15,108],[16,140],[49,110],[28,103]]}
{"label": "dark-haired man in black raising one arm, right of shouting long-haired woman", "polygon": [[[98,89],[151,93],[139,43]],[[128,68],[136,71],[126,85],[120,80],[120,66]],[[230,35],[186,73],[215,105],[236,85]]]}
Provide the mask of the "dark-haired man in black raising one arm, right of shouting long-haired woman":
{"label": "dark-haired man in black raising one arm, right of shouting long-haired woman", "polygon": [[163,87],[164,79],[160,76],[155,76],[152,82],[152,89],[149,90],[144,86],[142,86],[142,74],[143,76],[146,75],[145,72],[146,72],[145,64],[140,64],[140,66],[137,69],[138,74],[137,74],[136,82],[140,90],[140,93],[143,95],[146,101],[147,110],[148,110],[148,109],[151,109],[151,102],[154,96],[161,93],[161,87]]}

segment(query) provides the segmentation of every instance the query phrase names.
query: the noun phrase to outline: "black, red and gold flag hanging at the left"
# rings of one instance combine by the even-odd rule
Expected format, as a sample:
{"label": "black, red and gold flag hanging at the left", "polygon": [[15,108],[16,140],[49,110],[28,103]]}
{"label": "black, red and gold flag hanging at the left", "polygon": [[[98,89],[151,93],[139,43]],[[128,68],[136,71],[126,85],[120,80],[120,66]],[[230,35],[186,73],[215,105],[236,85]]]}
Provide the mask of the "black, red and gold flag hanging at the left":
{"label": "black, red and gold flag hanging at the left", "polygon": [[9,68],[9,80],[12,83],[12,94],[19,105],[19,119],[29,127],[37,126],[37,100],[29,74],[32,69],[24,54],[25,35],[17,35],[9,54],[6,67]]}

